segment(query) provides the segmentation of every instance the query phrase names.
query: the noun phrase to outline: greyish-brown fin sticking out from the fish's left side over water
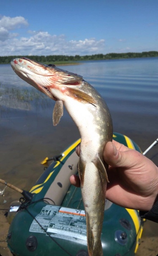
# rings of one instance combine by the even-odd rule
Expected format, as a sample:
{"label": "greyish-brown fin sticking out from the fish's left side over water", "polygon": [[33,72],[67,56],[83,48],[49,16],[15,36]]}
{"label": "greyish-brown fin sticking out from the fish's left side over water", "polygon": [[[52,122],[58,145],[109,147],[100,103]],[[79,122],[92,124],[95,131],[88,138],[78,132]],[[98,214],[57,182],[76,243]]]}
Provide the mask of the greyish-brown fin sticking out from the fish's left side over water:
{"label": "greyish-brown fin sticking out from the fish's left side over water", "polygon": [[63,116],[63,101],[57,100],[53,110],[53,125],[56,126]]}

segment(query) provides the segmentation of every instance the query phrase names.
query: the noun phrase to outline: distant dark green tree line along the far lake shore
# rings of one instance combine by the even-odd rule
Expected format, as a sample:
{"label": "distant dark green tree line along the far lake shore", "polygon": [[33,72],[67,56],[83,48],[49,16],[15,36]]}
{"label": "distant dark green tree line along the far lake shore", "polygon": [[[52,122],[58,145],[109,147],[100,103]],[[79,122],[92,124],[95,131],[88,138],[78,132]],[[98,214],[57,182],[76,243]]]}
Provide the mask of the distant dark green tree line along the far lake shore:
{"label": "distant dark green tree line along the far lake shore", "polygon": [[[21,56],[0,56],[0,64],[8,64],[13,58],[20,58]],[[109,60],[119,58],[142,58],[142,57],[158,57],[157,51],[142,52],[142,53],[107,53],[107,54],[93,54],[84,56],[66,56],[66,55],[48,55],[48,56],[25,56],[38,62],[60,62],[60,61],[88,61],[88,60]]]}

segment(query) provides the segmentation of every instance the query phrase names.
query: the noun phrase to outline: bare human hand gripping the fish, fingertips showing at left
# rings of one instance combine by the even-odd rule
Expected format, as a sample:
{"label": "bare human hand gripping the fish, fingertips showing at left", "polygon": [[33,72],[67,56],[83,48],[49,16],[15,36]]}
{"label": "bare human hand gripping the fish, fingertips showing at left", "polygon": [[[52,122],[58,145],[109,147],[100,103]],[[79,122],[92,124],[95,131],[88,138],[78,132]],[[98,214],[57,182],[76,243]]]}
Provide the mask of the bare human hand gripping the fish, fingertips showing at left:
{"label": "bare human hand gripping the fish, fingertips showing at left", "polygon": [[[79,147],[77,148],[79,155]],[[106,144],[104,160],[109,164],[106,198],[125,208],[149,211],[158,196],[158,167],[147,157],[119,142]],[[72,175],[71,184],[80,186]]]}

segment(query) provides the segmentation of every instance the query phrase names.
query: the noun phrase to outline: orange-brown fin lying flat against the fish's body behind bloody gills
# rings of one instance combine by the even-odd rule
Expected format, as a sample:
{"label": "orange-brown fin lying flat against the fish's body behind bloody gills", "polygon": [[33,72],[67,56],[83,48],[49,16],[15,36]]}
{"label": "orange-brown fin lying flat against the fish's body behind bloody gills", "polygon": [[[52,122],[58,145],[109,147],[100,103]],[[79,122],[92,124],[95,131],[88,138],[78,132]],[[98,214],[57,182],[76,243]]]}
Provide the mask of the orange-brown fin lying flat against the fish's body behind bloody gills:
{"label": "orange-brown fin lying flat against the fish's body behind bloody gills", "polygon": [[68,96],[74,97],[78,101],[82,101],[84,103],[90,103],[93,106],[95,106],[96,104],[96,100],[92,96],[88,95],[85,92],[80,91],[79,89],[74,89],[69,87],[67,92],[68,92]]}

